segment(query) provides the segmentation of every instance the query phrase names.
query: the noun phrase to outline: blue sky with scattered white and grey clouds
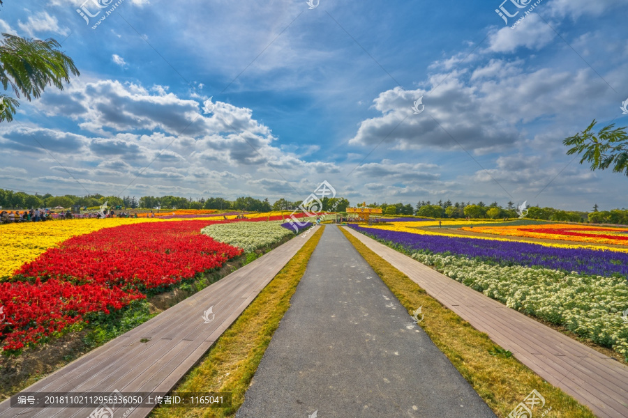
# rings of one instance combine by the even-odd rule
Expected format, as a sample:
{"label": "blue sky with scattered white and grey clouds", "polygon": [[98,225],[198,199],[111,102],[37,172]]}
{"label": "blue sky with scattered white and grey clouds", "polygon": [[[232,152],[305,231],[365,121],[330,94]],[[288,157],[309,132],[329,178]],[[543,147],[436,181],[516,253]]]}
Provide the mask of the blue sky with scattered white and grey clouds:
{"label": "blue sky with scattered white and grey clouds", "polygon": [[562,146],[628,125],[628,0],[4,3],[81,75],[0,124],[1,188],[628,207]]}

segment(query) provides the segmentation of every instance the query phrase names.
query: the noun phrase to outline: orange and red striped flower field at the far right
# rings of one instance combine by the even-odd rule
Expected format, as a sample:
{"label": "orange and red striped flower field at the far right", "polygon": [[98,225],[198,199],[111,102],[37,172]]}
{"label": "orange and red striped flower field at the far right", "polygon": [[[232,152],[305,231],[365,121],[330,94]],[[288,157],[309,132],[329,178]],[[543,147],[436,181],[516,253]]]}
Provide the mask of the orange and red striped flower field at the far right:
{"label": "orange and red striped flower field at the far right", "polygon": [[585,225],[547,224],[528,226],[486,226],[476,227],[473,229],[463,227],[462,229],[465,231],[490,233],[495,235],[592,242],[595,244],[628,245],[628,229],[626,228],[599,228],[597,226]]}

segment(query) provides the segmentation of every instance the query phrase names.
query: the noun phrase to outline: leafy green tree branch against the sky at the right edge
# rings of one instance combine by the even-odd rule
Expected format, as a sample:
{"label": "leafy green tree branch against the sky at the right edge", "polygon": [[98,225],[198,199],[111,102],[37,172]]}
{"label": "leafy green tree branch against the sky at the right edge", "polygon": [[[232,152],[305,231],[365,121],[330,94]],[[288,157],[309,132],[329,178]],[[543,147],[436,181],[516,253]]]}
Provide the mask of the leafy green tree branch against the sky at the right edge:
{"label": "leafy green tree branch against the sky at the right edge", "polygon": [[602,128],[597,135],[593,127],[597,124],[595,119],[589,127],[573,137],[565,138],[562,144],[571,146],[567,155],[582,155],[580,164],[591,163],[591,170],[606,170],[613,166],[613,173],[626,171],[628,176],[628,134],[626,127],[613,129],[615,124]]}

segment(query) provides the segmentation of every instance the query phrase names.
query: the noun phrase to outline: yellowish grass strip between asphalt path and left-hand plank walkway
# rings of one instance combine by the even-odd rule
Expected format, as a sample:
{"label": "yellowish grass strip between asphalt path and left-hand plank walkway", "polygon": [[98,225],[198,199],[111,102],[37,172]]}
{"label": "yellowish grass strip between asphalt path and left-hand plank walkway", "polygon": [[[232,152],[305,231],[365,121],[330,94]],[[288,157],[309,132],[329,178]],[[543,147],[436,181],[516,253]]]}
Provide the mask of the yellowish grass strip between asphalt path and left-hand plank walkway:
{"label": "yellowish grass strip between asphalt path and left-hand plank walkway", "polygon": [[[290,299],[306,271],[324,226],[297,252],[285,267],[227,329],[200,364],[179,382],[176,392],[232,392],[230,408],[172,408],[162,406],[151,413],[165,417],[234,417],[244,403],[244,394],[262,361]],[[301,239],[300,237],[297,239]]]}

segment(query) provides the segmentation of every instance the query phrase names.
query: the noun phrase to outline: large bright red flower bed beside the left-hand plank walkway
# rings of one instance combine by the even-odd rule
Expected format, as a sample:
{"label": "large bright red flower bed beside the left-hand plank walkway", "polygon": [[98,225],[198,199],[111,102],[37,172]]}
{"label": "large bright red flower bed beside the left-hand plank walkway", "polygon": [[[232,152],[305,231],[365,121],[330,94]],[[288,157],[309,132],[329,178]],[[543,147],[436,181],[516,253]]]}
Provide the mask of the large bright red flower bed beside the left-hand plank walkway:
{"label": "large bright red flower bed beside the left-hand plank walkway", "polygon": [[85,314],[109,314],[146,297],[143,293],[151,288],[177,284],[242,253],[201,235],[207,224],[117,226],[48,249],[15,272],[13,280],[29,281],[0,283],[6,316],[0,323],[3,349],[20,350],[84,320]]}

